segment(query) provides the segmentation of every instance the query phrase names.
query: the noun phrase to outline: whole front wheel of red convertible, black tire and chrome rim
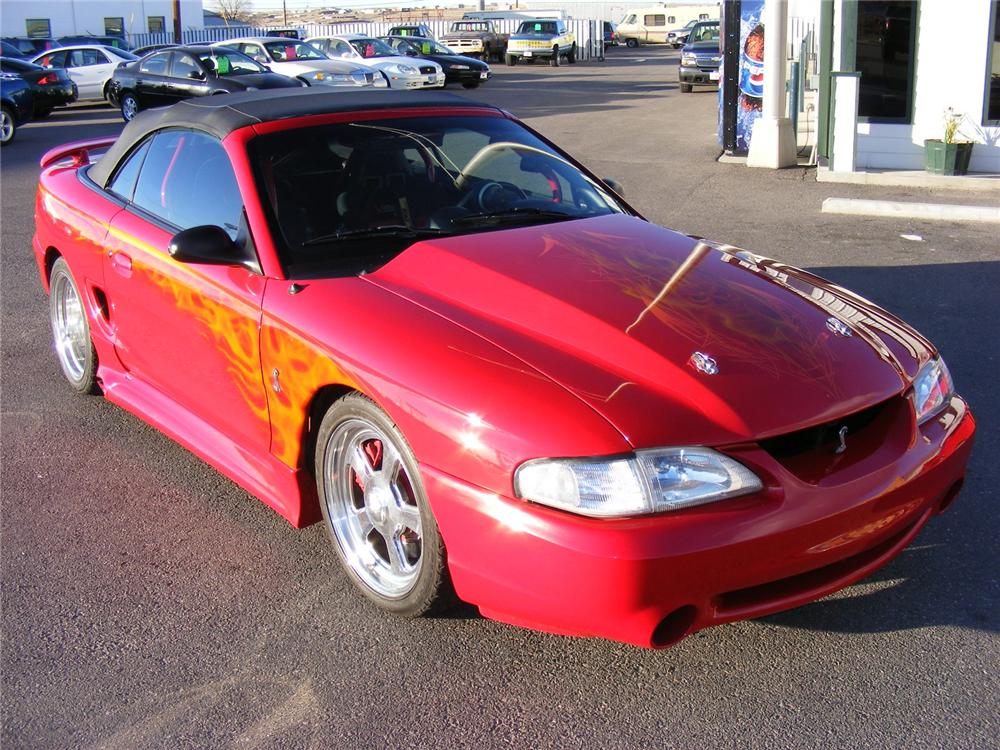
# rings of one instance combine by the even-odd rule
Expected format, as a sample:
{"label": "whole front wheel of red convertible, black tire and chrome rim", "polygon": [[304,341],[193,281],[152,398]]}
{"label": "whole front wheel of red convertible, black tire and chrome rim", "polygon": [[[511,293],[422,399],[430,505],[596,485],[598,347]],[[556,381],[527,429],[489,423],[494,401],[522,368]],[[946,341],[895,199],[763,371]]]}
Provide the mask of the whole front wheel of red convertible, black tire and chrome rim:
{"label": "whole front wheel of red convertible, black tire and chrome rim", "polygon": [[365,596],[405,617],[454,602],[416,459],[385,412],[357,393],[334,402],[320,424],[315,469],[327,532]]}

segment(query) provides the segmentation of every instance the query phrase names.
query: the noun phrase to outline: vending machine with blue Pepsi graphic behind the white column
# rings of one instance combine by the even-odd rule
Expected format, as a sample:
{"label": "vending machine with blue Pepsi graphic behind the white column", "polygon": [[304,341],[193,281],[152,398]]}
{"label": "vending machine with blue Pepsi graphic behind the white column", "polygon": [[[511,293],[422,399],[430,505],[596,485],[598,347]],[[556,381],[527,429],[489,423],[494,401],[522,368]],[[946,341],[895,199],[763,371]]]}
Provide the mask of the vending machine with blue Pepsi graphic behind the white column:
{"label": "vending machine with blue Pepsi graphic behind the white column", "polygon": [[764,96],[765,0],[722,4],[722,86],[719,142],[727,154],[745,156]]}

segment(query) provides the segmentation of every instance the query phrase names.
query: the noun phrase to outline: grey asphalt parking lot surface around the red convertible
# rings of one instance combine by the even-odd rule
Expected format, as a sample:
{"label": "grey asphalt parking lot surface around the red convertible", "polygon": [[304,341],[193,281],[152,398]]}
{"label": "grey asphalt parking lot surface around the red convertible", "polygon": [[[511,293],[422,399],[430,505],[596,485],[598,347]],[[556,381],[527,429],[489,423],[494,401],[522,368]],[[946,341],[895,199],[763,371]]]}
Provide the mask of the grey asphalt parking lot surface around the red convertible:
{"label": "grey asphalt parking lot surface around the red convertible", "polygon": [[820,213],[831,195],[996,194],[719,164],[715,94],[680,94],[676,61],[641,48],[500,67],[471,96],[620,180],[651,220],[815,270],[927,334],[980,427],[948,513],[859,585],[667,651],[472,608],[391,619],[352,591],[320,525],[292,529],[64,385],[31,255],[38,159],[121,128],[108,107],[74,106],[0,155],[3,747],[996,747],[996,225]]}

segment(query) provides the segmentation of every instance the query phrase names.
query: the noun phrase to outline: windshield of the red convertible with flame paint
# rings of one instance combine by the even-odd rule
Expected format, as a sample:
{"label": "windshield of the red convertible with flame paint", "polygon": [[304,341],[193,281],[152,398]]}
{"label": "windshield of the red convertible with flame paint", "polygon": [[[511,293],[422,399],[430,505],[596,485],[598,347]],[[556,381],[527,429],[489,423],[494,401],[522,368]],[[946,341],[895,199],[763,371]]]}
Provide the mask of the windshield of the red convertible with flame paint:
{"label": "windshield of the red convertible with flame paint", "polygon": [[420,239],[628,209],[503,117],[293,128],[251,141],[275,245],[296,277],[374,270]]}

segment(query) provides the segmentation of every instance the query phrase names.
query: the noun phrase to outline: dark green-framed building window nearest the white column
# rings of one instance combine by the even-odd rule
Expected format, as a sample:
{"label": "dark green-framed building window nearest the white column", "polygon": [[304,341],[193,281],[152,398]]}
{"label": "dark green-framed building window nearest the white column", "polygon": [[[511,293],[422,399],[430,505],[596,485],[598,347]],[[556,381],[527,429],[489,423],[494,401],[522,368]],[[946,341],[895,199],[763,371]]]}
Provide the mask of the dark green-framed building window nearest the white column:
{"label": "dark green-framed building window nearest the white column", "polygon": [[909,122],[917,3],[890,0],[857,7],[858,114],[875,121]]}

